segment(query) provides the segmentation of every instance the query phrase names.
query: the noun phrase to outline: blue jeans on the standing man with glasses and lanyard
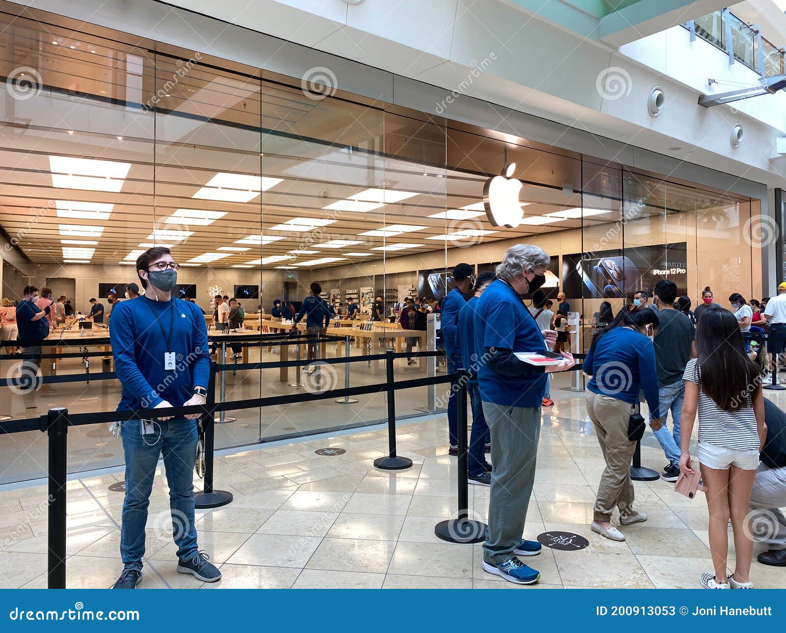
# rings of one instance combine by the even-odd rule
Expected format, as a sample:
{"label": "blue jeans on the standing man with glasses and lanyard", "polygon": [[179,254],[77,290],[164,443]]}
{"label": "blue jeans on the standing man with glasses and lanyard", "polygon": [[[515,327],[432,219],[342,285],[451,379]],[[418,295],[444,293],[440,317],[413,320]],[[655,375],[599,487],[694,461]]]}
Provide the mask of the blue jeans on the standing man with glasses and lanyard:
{"label": "blue jeans on the standing man with glasses and lanyard", "polygon": [[154,433],[142,435],[141,422],[129,420],[123,423],[121,430],[126,457],[126,496],[123,499],[123,525],[120,527],[120,558],[123,565],[135,569],[142,568],[152,480],[162,454],[178,559],[193,558],[199,551],[196,547],[193,488],[196,420],[174,418],[156,422],[153,427]]}

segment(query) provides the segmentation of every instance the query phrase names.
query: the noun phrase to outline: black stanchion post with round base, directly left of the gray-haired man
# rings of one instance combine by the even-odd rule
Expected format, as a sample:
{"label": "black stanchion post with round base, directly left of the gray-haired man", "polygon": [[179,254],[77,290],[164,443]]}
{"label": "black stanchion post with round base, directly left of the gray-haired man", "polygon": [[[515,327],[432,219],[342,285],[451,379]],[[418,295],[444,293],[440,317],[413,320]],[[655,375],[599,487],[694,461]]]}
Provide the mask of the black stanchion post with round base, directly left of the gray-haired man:
{"label": "black stanchion post with round base, directly left of the gray-haired man", "polygon": [[487,525],[482,521],[469,518],[469,484],[468,455],[467,455],[467,380],[468,372],[458,370],[457,386],[457,426],[458,426],[458,517],[439,521],[435,525],[434,533],[442,540],[450,543],[480,543],[486,540]]}

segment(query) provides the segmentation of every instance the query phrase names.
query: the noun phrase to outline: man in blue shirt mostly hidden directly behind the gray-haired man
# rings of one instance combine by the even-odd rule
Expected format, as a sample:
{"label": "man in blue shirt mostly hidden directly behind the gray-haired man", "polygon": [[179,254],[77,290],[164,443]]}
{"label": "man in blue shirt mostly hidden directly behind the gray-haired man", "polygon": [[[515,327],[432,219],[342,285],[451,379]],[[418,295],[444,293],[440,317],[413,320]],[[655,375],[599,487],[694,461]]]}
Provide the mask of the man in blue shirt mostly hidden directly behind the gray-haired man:
{"label": "man in blue shirt mostly hidden directly behind the gray-haired man", "polygon": [[468,480],[471,484],[491,485],[490,464],[483,457],[489,441],[489,427],[483,416],[483,402],[478,387],[478,357],[475,353],[475,306],[480,295],[494,281],[494,273],[481,273],[475,282],[474,296],[461,306],[456,324],[456,338],[463,367],[470,372],[467,391],[472,407],[472,434],[469,438]]}

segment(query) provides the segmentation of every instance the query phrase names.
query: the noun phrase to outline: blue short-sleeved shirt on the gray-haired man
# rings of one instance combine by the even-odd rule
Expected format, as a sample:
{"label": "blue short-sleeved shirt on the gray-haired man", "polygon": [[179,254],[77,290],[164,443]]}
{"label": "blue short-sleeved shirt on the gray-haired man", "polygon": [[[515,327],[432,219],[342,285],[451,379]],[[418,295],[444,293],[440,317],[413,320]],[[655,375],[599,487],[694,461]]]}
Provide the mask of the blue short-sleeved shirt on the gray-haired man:
{"label": "blue short-sleeved shirt on the gray-haired man", "polygon": [[[487,347],[513,352],[542,352],[543,335],[521,296],[502,280],[494,280],[475,306],[475,353]],[[509,407],[539,407],[548,375],[505,376],[479,363],[478,383],[483,402]]]}

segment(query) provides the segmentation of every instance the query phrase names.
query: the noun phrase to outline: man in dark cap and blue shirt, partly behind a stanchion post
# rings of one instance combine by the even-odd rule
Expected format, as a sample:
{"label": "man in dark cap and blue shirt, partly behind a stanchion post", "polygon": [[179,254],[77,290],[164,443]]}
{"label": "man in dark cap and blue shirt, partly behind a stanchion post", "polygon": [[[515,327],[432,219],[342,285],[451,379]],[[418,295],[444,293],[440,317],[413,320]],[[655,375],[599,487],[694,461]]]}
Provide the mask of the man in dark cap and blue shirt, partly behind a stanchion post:
{"label": "man in dark cap and blue shirt, partly behind a stanchion post", "polygon": [[[456,374],[456,370],[461,367],[461,350],[458,349],[456,341],[456,320],[458,313],[467,302],[467,295],[470,288],[475,285],[475,269],[469,264],[457,264],[453,269],[454,289],[451,290],[442,301],[439,329],[442,331],[443,344],[445,346],[445,356],[447,357],[447,372],[451,375]],[[447,403],[447,427],[448,454],[458,455],[457,422],[456,422],[456,398],[458,389],[456,379],[450,381],[450,399]]]}

